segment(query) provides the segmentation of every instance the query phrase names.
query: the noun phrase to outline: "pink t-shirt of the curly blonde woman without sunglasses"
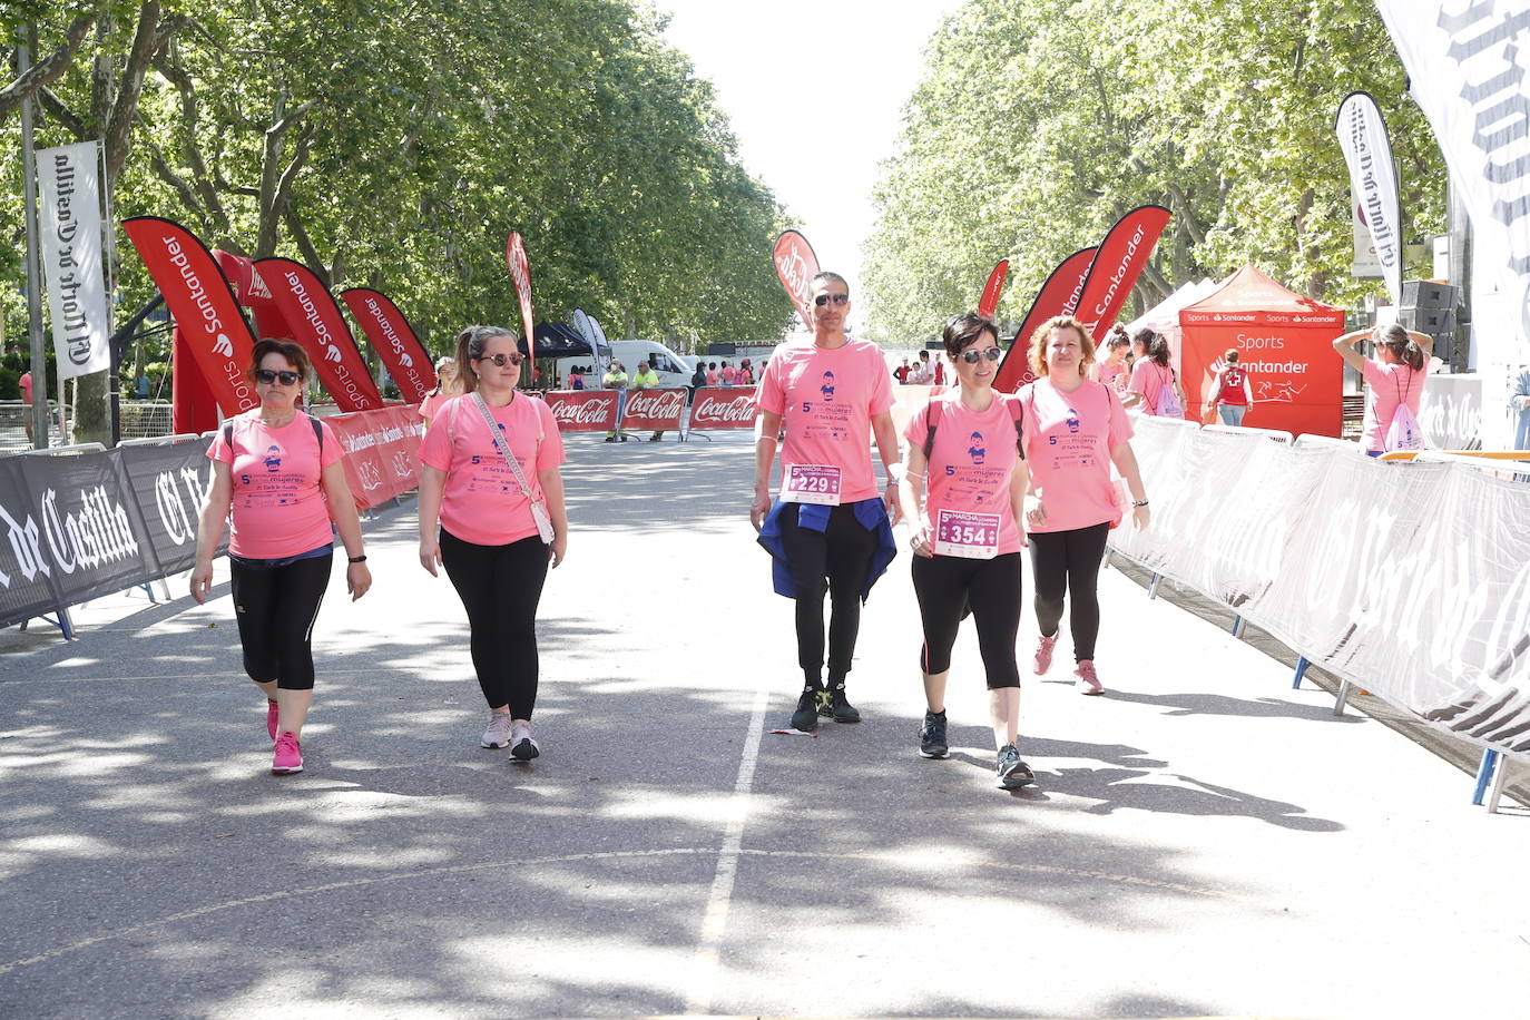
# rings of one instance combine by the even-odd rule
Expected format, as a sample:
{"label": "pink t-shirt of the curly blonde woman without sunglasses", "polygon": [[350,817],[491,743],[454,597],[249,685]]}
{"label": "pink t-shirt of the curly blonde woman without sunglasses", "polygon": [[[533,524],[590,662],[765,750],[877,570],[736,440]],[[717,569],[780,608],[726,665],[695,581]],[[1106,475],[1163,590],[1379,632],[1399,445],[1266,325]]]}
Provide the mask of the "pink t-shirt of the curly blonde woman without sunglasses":
{"label": "pink t-shirt of the curly blonde woman without sunglasses", "polygon": [[1073,393],[1060,393],[1050,379],[1037,379],[1016,396],[1025,413],[1031,483],[1047,509],[1047,523],[1031,531],[1121,523],[1111,450],[1132,437],[1132,427],[1115,390],[1085,379]]}

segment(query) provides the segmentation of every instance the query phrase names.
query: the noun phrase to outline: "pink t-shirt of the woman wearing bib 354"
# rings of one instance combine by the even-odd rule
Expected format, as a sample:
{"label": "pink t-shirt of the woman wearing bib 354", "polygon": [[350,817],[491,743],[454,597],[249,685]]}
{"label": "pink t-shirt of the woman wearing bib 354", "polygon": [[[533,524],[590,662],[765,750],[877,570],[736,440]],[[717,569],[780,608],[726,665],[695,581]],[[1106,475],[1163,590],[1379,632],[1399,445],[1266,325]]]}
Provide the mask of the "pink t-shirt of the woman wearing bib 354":
{"label": "pink t-shirt of the woman wearing bib 354", "polygon": [[1021,551],[1021,528],[1010,503],[1010,477],[1019,462],[1014,448],[1013,396],[994,393],[987,411],[979,414],[961,402],[953,390],[932,398],[909,419],[904,437],[924,448],[930,422],[935,422],[935,445],[924,480],[924,523],[935,531],[939,512],[964,511],[999,515],[999,555]]}

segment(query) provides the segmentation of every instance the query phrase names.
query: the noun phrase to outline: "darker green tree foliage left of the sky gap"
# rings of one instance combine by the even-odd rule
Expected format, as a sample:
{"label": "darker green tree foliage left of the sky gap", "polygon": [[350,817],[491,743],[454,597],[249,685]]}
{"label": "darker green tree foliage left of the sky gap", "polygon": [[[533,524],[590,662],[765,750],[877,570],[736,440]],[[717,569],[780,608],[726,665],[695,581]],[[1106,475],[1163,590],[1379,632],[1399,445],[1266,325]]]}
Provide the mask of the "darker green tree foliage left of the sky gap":
{"label": "darker green tree foliage left of the sky gap", "polygon": [[[118,219],[288,255],[386,291],[428,346],[516,324],[519,229],[539,318],[617,335],[780,335],[783,226],[727,119],[640,0],[0,0],[0,272],[20,280],[18,119],[38,145],[104,138]],[[122,315],[151,281],[119,234]],[[24,335],[12,287],[6,336]]]}

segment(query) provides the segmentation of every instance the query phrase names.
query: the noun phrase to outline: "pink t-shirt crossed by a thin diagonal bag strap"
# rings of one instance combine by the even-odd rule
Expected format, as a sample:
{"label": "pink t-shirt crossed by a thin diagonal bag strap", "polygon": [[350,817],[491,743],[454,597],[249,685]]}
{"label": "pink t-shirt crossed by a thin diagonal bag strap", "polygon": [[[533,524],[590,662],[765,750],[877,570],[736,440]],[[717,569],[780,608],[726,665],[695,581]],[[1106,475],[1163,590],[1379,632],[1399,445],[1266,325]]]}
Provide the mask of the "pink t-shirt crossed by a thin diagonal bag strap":
{"label": "pink t-shirt crossed by a thin diagonal bag strap", "polygon": [[[505,434],[509,453],[520,462],[531,492],[540,495],[537,471],[555,468],[566,459],[552,408],[545,401],[519,393],[506,407],[488,410]],[[419,443],[419,459],[447,473],[441,526],[462,541],[508,546],[537,534],[531,500],[522,495],[516,473],[494,445],[471,395],[454,396],[442,405]]]}

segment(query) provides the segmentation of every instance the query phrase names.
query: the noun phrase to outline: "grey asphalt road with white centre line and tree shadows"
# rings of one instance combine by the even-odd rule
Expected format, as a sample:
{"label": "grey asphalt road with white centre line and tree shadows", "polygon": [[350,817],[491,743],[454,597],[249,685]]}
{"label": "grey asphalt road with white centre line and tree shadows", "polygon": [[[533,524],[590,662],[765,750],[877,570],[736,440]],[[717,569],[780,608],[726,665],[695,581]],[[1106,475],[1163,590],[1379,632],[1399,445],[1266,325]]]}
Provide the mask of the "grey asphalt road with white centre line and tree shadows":
{"label": "grey asphalt road with white centre line and tree shadows", "polygon": [[1334,717],[1258,641],[1108,570],[1109,693],[1027,673],[1037,783],[1007,794],[970,627],[953,755],[915,754],[900,557],[851,674],[866,720],[774,736],[791,603],[748,443],[569,453],[529,766],[477,746],[409,503],[367,528],[366,599],[337,572],[298,775],[266,769],[226,586],[87,607],[69,645],[11,632],[0,1015],[1530,1012],[1530,810],[1472,807],[1458,762]]}

